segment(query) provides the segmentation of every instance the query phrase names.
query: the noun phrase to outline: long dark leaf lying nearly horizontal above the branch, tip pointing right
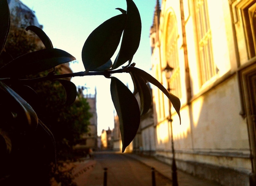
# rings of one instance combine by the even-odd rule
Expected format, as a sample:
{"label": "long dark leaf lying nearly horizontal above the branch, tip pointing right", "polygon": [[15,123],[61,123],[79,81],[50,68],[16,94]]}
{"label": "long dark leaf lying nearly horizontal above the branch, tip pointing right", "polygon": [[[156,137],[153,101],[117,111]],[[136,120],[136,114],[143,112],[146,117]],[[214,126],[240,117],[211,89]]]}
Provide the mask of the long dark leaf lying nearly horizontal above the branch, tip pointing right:
{"label": "long dark leaf lying nearly horizontal above the branch, tip pointing right", "polygon": [[20,77],[75,60],[68,52],[50,48],[24,54],[0,68],[0,77]]}

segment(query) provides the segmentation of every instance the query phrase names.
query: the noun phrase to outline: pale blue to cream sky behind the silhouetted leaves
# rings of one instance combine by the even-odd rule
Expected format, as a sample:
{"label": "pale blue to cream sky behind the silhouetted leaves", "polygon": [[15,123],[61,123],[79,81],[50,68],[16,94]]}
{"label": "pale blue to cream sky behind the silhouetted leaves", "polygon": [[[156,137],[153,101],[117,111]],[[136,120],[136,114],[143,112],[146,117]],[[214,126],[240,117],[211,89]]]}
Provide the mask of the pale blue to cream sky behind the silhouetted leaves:
{"label": "pale blue to cream sky behind the silhouetted leaves", "polygon": [[[43,31],[51,39],[54,48],[59,48],[73,55],[78,63],[72,64],[73,72],[84,71],[81,60],[81,50],[90,33],[105,20],[120,14],[115,8],[126,10],[125,0],[21,0],[35,11]],[[156,0],[134,0],[142,22],[140,46],[133,57],[136,67],[150,73],[151,49],[149,31],[153,23]],[[118,51],[117,51],[118,53]],[[112,61],[115,59],[114,54]],[[133,88],[128,74],[118,75],[130,89]],[[98,135],[102,129],[114,127],[114,107],[111,100],[110,80],[104,77],[72,78],[76,86],[88,87],[88,93],[97,89]],[[85,92],[86,93],[86,92]]]}

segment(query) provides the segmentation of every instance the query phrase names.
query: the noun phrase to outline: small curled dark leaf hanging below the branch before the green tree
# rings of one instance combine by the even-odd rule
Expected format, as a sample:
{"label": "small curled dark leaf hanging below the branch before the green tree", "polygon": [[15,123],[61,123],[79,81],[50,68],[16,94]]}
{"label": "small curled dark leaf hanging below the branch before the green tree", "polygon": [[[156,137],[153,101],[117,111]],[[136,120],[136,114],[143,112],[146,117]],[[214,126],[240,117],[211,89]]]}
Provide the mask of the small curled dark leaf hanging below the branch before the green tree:
{"label": "small curled dark leaf hanging below the branch before the green tree", "polygon": [[76,90],[75,84],[73,84],[71,81],[64,80],[64,79],[57,79],[57,81],[59,81],[62,84],[62,86],[65,88],[65,91],[66,91],[65,104],[71,105],[76,99],[77,90]]}

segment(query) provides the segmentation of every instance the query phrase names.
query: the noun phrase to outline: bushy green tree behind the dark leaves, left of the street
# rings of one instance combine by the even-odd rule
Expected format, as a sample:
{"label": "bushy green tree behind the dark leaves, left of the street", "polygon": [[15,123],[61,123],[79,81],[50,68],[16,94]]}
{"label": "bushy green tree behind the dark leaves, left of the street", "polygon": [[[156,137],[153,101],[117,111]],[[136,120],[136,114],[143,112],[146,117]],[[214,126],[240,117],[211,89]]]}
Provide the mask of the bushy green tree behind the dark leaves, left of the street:
{"label": "bushy green tree behind the dark leaves, left of the street", "polygon": [[54,136],[58,159],[66,159],[65,155],[72,150],[72,146],[80,142],[83,133],[88,132],[92,114],[87,99],[78,92],[72,104],[67,104],[67,101],[64,104],[67,93],[59,81],[43,81],[31,87],[40,99],[40,103],[37,101],[33,108]]}

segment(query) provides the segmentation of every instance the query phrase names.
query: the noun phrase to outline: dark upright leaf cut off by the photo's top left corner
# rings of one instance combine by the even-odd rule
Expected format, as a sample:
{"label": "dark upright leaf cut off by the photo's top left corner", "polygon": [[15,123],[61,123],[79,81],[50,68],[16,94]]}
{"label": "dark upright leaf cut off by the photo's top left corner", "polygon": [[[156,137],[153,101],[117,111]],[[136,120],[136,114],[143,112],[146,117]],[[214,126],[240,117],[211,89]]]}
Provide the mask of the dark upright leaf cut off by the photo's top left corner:
{"label": "dark upright leaf cut off by the photo's top left corner", "polygon": [[0,1],[0,54],[2,53],[10,31],[10,10],[7,0]]}

